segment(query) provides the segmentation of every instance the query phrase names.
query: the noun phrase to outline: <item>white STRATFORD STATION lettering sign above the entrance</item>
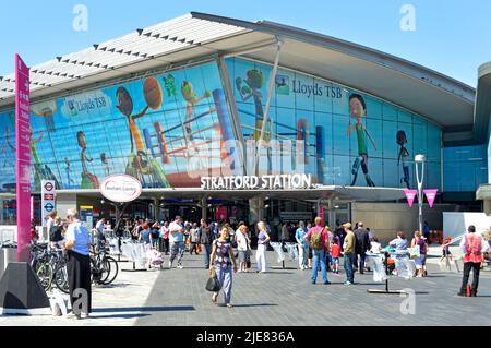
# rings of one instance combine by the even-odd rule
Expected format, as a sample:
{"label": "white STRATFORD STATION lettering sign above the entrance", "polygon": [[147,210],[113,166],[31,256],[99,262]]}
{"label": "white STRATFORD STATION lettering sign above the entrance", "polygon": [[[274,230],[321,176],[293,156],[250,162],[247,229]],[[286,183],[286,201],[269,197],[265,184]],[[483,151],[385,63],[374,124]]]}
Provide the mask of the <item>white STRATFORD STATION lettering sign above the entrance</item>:
{"label": "white STRATFORD STATION lettering sign above the entrance", "polygon": [[203,190],[304,190],[312,189],[311,175],[202,177]]}

